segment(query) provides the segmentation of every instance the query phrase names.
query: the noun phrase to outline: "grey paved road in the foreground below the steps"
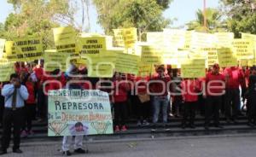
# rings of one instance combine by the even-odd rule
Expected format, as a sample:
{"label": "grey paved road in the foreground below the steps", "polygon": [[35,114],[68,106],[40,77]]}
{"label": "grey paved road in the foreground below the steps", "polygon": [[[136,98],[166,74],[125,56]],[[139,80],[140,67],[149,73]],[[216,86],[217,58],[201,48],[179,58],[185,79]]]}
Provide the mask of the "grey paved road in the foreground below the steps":
{"label": "grey paved road in the foreground below the steps", "polygon": [[[61,142],[23,143],[24,154],[3,156],[62,156],[57,152]],[[251,137],[184,137],[136,142],[93,142],[88,157],[255,157],[256,135]]]}

